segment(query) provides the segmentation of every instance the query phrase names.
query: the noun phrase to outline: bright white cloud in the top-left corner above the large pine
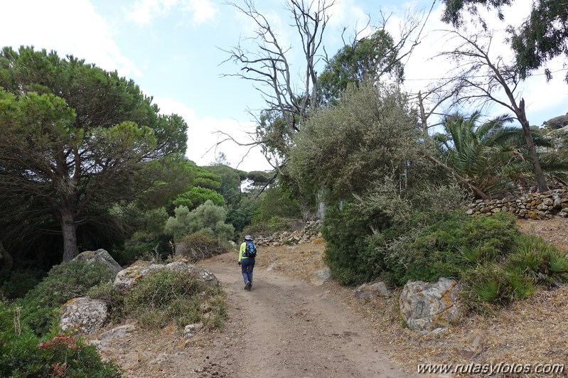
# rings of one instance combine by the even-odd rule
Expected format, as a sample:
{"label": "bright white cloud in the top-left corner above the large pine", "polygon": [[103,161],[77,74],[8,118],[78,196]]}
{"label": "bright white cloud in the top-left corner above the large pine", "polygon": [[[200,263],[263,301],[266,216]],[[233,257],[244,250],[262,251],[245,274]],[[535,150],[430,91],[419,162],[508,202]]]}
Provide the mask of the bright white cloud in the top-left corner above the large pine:
{"label": "bright white cloud in the top-left corner above the large pine", "polygon": [[[32,11],[33,10],[33,11]],[[20,0],[2,4],[0,45],[56,50],[60,57],[74,55],[120,75],[141,72],[122,55],[108,23],[87,0]]]}

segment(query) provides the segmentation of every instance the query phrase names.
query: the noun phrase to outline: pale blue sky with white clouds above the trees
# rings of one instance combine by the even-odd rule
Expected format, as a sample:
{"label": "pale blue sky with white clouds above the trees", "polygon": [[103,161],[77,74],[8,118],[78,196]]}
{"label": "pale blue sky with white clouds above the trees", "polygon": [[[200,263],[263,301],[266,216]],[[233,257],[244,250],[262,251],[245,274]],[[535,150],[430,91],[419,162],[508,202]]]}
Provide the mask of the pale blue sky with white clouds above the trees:
{"label": "pale blue sky with white clouds above the trees", "polygon": [[[233,0],[242,5],[242,0]],[[293,80],[299,86],[301,45],[291,28],[284,0],[256,1],[277,33],[279,42],[290,48]],[[488,16],[490,28],[503,30],[508,23],[518,24],[528,14],[530,0],[515,0],[504,9],[505,23]],[[397,38],[404,14],[424,10],[432,1],[341,0],[331,9],[323,44],[333,56],[345,40],[353,38],[355,29],[373,31],[381,12],[389,16],[387,30]],[[154,97],[164,114],[181,115],[188,124],[186,155],[200,166],[215,161],[222,152],[233,168],[243,171],[267,170],[259,148],[240,147],[225,141],[219,131],[242,143],[250,142],[254,115],[264,102],[252,82],[237,77],[239,66],[226,52],[252,36],[249,19],[235,7],[218,0],[1,0],[0,47],[33,45],[36,49],[55,50],[60,56],[74,55],[105,70],[134,80],[146,95]],[[442,6],[439,1],[429,15],[421,33],[421,42],[404,60],[403,89],[413,94],[436,79],[444,78],[453,67],[442,58],[441,50],[451,49],[441,29]],[[370,26],[367,26],[370,20]],[[243,42],[246,43],[246,42]],[[510,55],[504,34],[494,38],[492,51]],[[321,50],[323,53],[323,50]],[[323,63],[318,68],[323,70]],[[568,111],[568,85],[563,82],[565,68],[553,61],[549,68],[557,72],[550,82],[534,75],[520,87],[527,104],[531,124],[565,114]],[[535,72],[539,73],[539,72]],[[489,113],[503,114],[494,108]]]}

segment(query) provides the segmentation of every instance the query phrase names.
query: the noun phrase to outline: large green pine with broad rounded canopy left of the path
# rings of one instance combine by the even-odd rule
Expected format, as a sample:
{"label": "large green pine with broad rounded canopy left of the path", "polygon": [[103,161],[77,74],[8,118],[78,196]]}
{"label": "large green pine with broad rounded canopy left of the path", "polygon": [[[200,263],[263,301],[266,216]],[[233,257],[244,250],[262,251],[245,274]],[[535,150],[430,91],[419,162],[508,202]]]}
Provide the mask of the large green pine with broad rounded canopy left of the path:
{"label": "large green pine with broad rounded canopy left of the path", "polygon": [[38,237],[33,220],[54,218],[64,261],[78,253],[77,228],[95,225],[115,203],[158,201],[187,185],[177,164],[186,122],[159,114],[117,72],[53,51],[4,48],[0,87],[0,200],[21,225],[10,228]]}

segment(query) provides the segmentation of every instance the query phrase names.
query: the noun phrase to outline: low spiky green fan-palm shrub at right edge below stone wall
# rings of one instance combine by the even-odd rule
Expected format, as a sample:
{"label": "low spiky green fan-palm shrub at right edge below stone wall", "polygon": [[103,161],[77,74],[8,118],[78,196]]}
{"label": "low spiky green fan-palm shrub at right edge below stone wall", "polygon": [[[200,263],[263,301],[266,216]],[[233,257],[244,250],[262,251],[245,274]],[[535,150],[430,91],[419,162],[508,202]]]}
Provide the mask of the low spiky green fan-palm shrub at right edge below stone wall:
{"label": "low spiky green fan-palm shrub at right edge below stone wall", "polygon": [[568,257],[540,237],[521,235],[508,257],[508,269],[525,274],[535,284],[559,286],[568,281]]}

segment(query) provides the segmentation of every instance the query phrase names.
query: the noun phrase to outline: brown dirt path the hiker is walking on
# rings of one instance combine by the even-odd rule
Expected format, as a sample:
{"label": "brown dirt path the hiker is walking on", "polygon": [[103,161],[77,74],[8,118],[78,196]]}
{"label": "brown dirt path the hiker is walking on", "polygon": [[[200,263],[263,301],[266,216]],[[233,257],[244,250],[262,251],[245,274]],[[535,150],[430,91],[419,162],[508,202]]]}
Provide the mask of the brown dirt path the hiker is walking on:
{"label": "brown dirt path the hiker is walking on", "polygon": [[255,269],[252,291],[245,291],[236,264],[208,269],[230,305],[208,360],[231,377],[407,376],[389,362],[365,320],[321,288]]}

